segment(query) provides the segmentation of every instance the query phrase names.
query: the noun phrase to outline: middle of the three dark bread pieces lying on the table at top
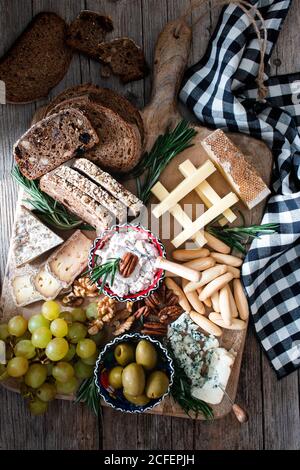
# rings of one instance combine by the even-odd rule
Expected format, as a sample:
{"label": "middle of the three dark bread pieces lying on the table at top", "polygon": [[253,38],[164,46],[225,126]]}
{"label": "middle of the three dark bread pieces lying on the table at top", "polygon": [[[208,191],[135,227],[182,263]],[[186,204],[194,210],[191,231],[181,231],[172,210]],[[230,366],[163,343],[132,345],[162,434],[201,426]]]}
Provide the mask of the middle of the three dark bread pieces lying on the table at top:
{"label": "middle of the three dark bread pieces lying on the table at top", "polygon": [[98,44],[114,29],[110,17],[94,11],[83,10],[70,24],[67,32],[68,46],[98,59]]}

